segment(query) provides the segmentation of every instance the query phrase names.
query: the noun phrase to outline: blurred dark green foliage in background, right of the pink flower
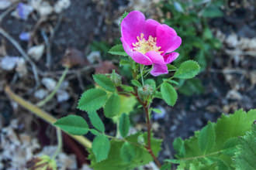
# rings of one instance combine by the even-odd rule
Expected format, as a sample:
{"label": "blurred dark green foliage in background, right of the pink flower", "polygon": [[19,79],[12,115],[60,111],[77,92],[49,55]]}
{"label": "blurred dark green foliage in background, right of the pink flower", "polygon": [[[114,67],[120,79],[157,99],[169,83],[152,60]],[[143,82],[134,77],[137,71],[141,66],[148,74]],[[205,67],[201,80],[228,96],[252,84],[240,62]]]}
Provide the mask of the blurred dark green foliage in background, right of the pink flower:
{"label": "blurred dark green foliage in background, right of the pink flower", "polygon": [[[164,22],[175,29],[178,36],[182,37],[182,46],[177,49],[180,56],[175,59],[175,66],[179,66],[187,59],[195,59],[201,70],[206,69],[213,58],[213,51],[221,47],[219,39],[213,37],[207,19],[222,16],[223,12],[220,8],[223,3],[223,0],[162,1],[161,11],[164,13]],[[170,12],[171,17],[168,17]],[[196,81],[199,82],[199,80]],[[178,91],[185,95],[203,92],[203,90],[192,87],[193,84],[197,86],[201,83],[182,83],[182,87]],[[187,88],[188,90],[186,90]]]}

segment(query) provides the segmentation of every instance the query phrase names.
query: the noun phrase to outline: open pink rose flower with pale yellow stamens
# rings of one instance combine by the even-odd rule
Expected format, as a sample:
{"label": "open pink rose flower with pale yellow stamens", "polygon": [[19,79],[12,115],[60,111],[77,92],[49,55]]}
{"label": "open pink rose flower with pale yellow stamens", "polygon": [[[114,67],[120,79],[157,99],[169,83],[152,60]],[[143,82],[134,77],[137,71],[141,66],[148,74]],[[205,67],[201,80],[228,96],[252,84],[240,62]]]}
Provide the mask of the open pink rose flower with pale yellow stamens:
{"label": "open pink rose flower with pale yellow stamens", "polygon": [[178,57],[173,52],[182,43],[171,27],[154,19],[145,19],[139,11],[130,12],[121,23],[123,49],[136,62],[153,65],[153,76],[168,73],[167,64]]}

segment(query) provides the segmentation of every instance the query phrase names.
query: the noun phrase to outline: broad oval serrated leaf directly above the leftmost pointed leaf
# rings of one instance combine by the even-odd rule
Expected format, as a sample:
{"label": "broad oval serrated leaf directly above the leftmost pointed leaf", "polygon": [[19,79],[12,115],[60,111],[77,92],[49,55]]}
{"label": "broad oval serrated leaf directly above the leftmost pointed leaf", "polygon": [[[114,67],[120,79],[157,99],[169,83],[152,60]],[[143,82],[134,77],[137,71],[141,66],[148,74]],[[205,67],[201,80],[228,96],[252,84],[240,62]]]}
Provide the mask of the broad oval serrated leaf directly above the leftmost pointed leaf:
{"label": "broad oval serrated leaf directly above the leftmost pointed leaf", "polygon": [[78,101],[78,109],[85,111],[95,111],[102,107],[107,100],[107,94],[104,90],[90,89],[82,93]]}

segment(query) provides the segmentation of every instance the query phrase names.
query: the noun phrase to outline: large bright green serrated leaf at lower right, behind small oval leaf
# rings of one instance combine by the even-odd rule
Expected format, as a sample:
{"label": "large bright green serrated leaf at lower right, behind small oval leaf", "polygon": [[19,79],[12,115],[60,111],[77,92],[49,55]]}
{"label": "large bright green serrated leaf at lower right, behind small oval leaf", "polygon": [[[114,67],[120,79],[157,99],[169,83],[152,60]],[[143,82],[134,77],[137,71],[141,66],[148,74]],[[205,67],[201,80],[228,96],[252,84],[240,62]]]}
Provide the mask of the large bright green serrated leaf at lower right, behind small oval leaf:
{"label": "large bright green serrated leaf at lower right, behind small oval leaf", "polygon": [[193,137],[184,141],[185,156],[180,160],[186,161],[182,161],[178,169],[209,169],[213,165],[217,169],[225,169],[225,167],[234,169],[234,164],[231,162],[237,147],[234,148],[236,142],[232,140],[250,131],[254,120],[256,120],[256,110],[250,110],[247,113],[237,110],[234,114],[223,114],[216,124],[212,123],[216,134],[216,144],[207,153],[199,148],[200,131],[195,131]]}

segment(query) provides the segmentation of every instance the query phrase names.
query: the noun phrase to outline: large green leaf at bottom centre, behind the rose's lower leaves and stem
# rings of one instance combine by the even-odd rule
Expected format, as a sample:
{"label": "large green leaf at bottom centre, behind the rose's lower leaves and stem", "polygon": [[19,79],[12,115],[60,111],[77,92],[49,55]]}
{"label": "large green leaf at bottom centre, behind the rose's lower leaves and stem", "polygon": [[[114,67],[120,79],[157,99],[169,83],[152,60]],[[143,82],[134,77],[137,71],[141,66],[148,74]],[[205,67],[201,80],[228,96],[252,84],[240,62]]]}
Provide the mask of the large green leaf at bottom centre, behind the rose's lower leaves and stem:
{"label": "large green leaf at bottom centre, behind the rose's lower leaves and stem", "polygon": [[[152,157],[148,153],[147,149],[138,142],[138,138],[141,135],[143,136],[144,141],[147,142],[147,133],[132,134],[126,138],[126,141],[112,139],[110,141],[111,147],[109,157],[102,162],[96,162],[95,155],[92,155],[91,152],[91,155],[89,156],[91,160],[91,167],[94,170],[133,170],[140,165],[146,165],[147,163],[151,162]],[[135,151],[135,156],[130,160],[130,162],[124,161],[120,155],[121,148],[125,142],[129,142],[130,145],[133,145]],[[157,155],[157,153],[161,150],[161,140],[152,138],[151,145],[154,154]]]}

